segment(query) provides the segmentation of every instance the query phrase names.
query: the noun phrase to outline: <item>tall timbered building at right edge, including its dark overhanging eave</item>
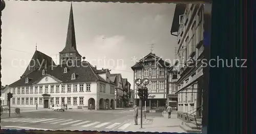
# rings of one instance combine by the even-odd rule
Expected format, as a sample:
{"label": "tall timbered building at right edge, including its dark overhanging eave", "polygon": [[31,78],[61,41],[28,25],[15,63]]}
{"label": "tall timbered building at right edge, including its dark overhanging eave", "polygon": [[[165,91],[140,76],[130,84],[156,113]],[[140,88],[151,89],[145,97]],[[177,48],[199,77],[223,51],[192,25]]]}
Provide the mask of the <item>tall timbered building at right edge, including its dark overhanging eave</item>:
{"label": "tall timbered building at right edge, including its dark overhanging eave", "polygon": [[203,4],[177,4],[171,29],[177,36],[179,57],[177,115],[185,121],[202,117],[203,10]]}

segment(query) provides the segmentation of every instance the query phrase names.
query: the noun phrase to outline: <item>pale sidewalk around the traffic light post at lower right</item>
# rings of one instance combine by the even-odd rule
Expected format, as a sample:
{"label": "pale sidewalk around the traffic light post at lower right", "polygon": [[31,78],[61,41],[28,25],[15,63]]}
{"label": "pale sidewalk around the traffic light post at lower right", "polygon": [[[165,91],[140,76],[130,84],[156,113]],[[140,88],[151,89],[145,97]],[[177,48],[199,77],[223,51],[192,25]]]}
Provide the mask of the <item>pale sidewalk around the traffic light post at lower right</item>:
{"label": "pale sidewalk around the traffic light post at lower right", "polygon": [[126,128],[126,131],[133,132],[185,132],[180,128],[181,120],[177,118],[176,114],[173,114],[170,119],[164,117],[148,117],[140,128],[140,118],[138,118],[138,125],[134,125],[134,120],[130,123],[132,125]]}

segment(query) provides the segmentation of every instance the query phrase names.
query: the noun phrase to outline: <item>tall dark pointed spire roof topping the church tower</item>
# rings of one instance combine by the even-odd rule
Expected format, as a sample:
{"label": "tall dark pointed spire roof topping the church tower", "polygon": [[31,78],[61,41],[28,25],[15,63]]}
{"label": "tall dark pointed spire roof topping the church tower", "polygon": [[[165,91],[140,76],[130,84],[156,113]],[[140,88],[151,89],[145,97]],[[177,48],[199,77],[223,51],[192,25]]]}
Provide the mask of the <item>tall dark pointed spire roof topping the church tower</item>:
{"label": "tall dark pointed spire roof topping the church tower", "polygon": [[71,7],[70,7],[69,25],[68,25],[66,46],[60,53],[65,53],[65,52],[77,52],[72,3],[71,3]]}

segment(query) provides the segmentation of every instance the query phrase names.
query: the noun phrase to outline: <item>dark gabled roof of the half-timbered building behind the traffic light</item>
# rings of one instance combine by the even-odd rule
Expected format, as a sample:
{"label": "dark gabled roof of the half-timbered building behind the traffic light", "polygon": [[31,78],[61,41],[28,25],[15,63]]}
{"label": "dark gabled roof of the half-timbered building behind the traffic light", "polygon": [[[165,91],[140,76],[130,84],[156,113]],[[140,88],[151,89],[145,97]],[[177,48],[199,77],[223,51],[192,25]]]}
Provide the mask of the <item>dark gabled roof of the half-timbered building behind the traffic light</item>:
{"label": "dark gabled roof of the half-timbered building behind the traffic light", "polygon": [[[162,58],[156,56],[156,54],[153,54],[153,53],[150,53],[148,55],[146,55],[145,57],[143,57],[139,62],[137,62],[135,65],[133,65],[131,68],[132,70],[135,70],[135,69],[139,69],[139,68],[142,68],[143,66],[143,59],[147,60],[151,60],[150,58],[153,59],[157,59],[156,61],[161,65],[161,66],[166,66],[166,68],[169,68],[170,67],[170,63],[169,62],[166,62],[164,60],[162,60]],[[154,60],[155,61],[155,60]]]}

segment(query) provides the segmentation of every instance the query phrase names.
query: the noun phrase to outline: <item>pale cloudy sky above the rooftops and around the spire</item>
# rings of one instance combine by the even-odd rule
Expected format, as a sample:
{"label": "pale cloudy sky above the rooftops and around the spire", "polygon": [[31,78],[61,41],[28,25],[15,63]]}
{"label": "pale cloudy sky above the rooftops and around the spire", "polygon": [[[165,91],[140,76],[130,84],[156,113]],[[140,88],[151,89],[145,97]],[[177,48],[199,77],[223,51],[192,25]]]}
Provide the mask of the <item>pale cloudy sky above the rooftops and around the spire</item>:
{"label": "pale cloudy sky above the rooftops and around the spire", "polygon": [[[71,3],[6,1],[2,12],[2,85],[17,81],[37,50],[58,64]],[[72,3],[78,52],[98,69],[120,73],[133,85],[135,64],[151,52],[171,64],[177,37],[170,34],[175,4]],[[56,61],[57,59],[57,61]],[[133,86],[132,86],[133,87]]]}

